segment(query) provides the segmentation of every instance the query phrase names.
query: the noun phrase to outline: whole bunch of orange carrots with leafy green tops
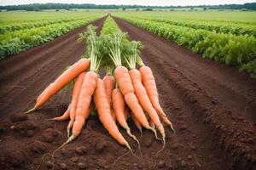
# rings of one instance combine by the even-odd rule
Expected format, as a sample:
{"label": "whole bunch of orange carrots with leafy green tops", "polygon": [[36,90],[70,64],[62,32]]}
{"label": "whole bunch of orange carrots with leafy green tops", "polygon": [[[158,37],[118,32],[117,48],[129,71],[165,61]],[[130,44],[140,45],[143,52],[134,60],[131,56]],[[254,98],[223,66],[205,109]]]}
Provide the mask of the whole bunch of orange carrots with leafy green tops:
{"label": "whole bunch of orange carrots with leafy green tops", "polygon": [[[103,25],[101,36],[96,36],[96,27],[88,26],[79,39],[86,39],[87,42],[84,58],[79,59],[55,82],[49,84],[38,96],[34,107],[26,113],[37,110],[74,81],[72,99],[67,111],[52,119],[69,119],[68,139],[61,147],[79,136],[86,119],[94,109],[113,139],[129,150],[131,146],[117,126],[119,123],[139,144],[127,123],[129,116],[141,132],[144,127],[154,132],[157,138],[158,130],[164,147],[166,134],[162,122],[173,131],[174,129],[160,106],[154,75],[139,56],[143,48],[141,42],[128,41],[126,34],[119,31],[119,27],[110,17]],[[100,69],[106,72],[103,78],[98,74]]]}

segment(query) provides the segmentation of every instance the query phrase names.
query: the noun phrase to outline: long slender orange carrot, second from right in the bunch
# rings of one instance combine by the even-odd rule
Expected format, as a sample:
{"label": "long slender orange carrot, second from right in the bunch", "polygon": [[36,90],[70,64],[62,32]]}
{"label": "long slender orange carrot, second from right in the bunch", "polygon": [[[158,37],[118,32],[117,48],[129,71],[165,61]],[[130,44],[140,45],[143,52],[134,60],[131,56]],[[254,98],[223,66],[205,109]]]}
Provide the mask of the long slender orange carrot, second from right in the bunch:
{"label": "long slender orange carrot, second from right in the bunch", "polygon": [[160,122],[160,118],[157,112],[154,110],[154,107],[151,104],[150,99],[148,98],[146,89],[143,87],[143,83],[141,82],[142,78],[141,78],[140,71],[138,71],[137,69],[131,69],[131,71],[129,71],[129,74],[130,74],[131,82],[135,89],[135,94],[137,95],[139,104],[142,105],[143,110],[148,113],[150,120],[154,123],[155,127],[160,131],[162,135],[162,139],[165,144],[166,143],[165,129],[162,123]]}

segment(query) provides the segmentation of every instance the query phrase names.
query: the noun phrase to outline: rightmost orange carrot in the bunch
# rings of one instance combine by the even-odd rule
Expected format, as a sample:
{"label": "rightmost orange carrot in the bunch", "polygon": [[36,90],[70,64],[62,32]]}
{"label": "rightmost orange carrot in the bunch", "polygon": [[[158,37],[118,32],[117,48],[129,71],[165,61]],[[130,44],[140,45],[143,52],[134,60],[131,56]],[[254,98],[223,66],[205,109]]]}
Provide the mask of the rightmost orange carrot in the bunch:
{"label": "rightmost orange carrot in the bunch", "polygon": [[148,97],[149,97],[152,105],[154,106],[154,109],[159,114],[162,122],[164,122],[166,125],[170,126],[172,128],[172,131],[175,132],[175,130],[172,126],[172,122],[170,122],[168,120],[165,112],[162,110],[162,108],[160,106],[159,95],[157,92],[154,76],[153,76],[151,69],[148,66],[143,65],[139,71],[142,75],[143,85],[146,88]]}

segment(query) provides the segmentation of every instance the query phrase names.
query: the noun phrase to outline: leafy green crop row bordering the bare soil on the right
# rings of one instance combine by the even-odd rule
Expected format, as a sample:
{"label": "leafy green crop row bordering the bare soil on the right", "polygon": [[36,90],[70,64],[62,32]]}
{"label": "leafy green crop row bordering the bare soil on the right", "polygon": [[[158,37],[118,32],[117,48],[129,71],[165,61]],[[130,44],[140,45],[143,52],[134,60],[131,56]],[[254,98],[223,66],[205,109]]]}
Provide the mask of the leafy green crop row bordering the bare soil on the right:
{"label": "leafy green crop row bordering the bare soil on the right", "polygon": [[194,53],[202,54],[203,58],[236,65],[241,71],[247,71],[251,77],[256,77],[256,39],[253,36],[235,36],[131,17],[123,19],[167,40],[175,41]]}

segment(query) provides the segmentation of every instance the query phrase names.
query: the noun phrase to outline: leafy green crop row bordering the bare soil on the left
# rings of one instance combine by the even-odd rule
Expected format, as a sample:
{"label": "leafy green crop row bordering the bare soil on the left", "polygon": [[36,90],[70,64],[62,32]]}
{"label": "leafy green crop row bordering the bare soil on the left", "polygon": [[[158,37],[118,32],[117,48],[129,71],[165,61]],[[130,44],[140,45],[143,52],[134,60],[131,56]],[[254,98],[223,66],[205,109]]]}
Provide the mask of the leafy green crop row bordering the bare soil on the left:
{"label": "leafy green crop row bordering the bare soil on the left", "polygon": [[29,48],[53,40],[55,37],[60,37],[68,31],[88,24],[92,20],[99,18],[100,16],[94,16],[83,20],[62,22],[48,26],[35,27],[32,29],[6,32],[5,34],[0,35],[0,59],[4,59],[12,54],[19,54]]}

